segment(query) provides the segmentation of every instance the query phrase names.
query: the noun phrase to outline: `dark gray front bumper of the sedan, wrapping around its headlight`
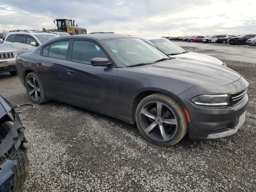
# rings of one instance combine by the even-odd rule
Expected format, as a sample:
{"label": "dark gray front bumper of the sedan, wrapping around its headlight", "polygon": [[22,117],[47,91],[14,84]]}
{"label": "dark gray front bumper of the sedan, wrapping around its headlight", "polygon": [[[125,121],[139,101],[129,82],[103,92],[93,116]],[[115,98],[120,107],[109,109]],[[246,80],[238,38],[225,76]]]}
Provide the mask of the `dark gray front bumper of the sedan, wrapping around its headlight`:
{"label": "dark gray front bumper of the sedan, wrapping around its headlight", "polygon": [[[234,106],[222,107],[202,107],[190,102],[191,95],[200,94],[219,94],[221,91],[227,93],[240,92],[248,87],[248,82],[244,78],[228,84],[226,86],[209,88],[208,86],[196,86],[187,90],[180,95],[182,100],[186,100],[186,110],[190,115],[191,122],[188,124],[189,137],[192,140],[214,140],[226,136],[230,136],[237,132],[245,120],[248,96],[244,96],[240,102]],[[204,88],[208,87],[210,92],[205,93]],[[218,90],[219,88],[219,90]]]}

